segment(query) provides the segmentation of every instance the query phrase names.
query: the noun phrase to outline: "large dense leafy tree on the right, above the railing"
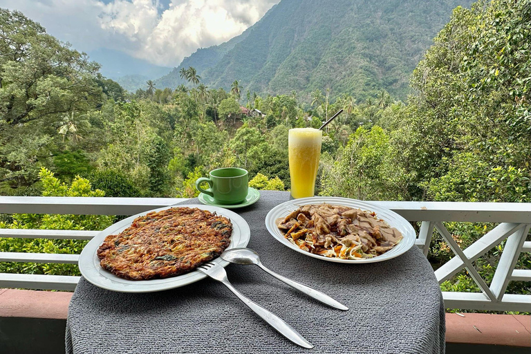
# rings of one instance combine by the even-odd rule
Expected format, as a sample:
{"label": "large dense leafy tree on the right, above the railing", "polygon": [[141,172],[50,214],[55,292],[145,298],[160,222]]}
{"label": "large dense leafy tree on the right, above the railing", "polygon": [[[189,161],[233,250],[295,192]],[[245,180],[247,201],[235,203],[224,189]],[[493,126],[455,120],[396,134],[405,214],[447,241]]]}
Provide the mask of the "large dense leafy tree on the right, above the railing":
{"label": "large dense leafy tree on the right, above the railing", "polygon": [[531,200],[530,23],[529,1],[456,8],[418,64],[391,124],[416,198]]}

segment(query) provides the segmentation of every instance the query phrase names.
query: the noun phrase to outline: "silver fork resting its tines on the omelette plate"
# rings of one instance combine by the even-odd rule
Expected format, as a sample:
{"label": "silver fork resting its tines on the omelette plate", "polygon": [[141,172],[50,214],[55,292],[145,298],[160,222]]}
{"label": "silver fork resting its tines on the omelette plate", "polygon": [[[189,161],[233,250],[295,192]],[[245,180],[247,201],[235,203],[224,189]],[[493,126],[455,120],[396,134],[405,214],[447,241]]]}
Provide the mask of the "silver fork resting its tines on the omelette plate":
{"label": "silver fork resting its tines on the omelette plate", "polygon": [[304,348],[313,348],[313,344],[304,339],[304,337],[301,336],[297,332],[297,330],[293,329],[292,326],[284,322],[283,319],[281,319],[277,315],[274,315],[274,313],[265,310],[265,308],[254,303],[247,297],[241,295],[241,293],[236,290],[234,286],[232,286],[229,279],[227,278],[227,272],[225,272],[225,268],[223,268],[221,265],[209,262],[203,265],[199,265],[197,270],[207,274],[212,279],[223,283],[223,285],[229,288],[230,291],[234,292],[234,295],[236,295],[241,301],[243,301],[245,305],[247,305],[251,310],[253,310],[254,313],[262,317],[265,322],[268,322],[270,326],[276,329],[284,337],[290,339],[291,342]]}

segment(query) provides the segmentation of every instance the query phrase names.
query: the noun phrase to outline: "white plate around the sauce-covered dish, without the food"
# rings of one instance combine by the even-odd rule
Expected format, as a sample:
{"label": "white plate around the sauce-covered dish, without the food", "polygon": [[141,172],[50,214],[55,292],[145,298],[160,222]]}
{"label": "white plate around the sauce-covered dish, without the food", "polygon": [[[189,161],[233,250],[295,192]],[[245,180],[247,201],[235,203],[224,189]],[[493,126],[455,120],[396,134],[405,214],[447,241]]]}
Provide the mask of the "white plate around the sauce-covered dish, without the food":
{"label": "white plate around the sauce-covered dish, without the food", "polygon": [[[381,254],[378,257],[373,257],[369,259],[339,259],[332,257],[324,257],[320,254],[313,254],[301,250],[296,245],[291,243],[288,239],[286,239],[284,235],[280,232],[277,225],[274,223],[277,218],[285,218],[286,216],[288,216],[288,214],[290,214],[290,212],[294,211],[301,205],[322,203],[328,203],[333,205],[346,205],[348,207],[355,207],[362,210],[371,210],[371,212],[376,213],[378,218],[382,218],[384,221],[386,221],[386,223],[391,225],[391,227],[395,227],[398,231],[402,232],[402,236],[404,236],[404,238],[402,239],[402,241],[400,241],[400,243],[395,245],[395,247],[391,248],[391,250],[385,252],[384,254]],[[279,241],[283,245],[286,245],[292,250],[305,254],[306,256],[321,259],[322,261],[330,261],[337,263],[373,263],[386,261],[387,259],[398,257],[400,256],[400,254],[407,252],[407,250],[413,247],[416,239],[415,230],[413,230],[411,224],[395,212],[392,212],[391,210],[386,209],[384,207],[379,207],[378,205],[366,203],[364,201],[356,201],[355,199],[339,198],[333,196],[300,198],[279,204],[273,209],[271,209],[270,212],[268,212],[268,215],[265,216],[265,227],[268,228],[270,234],[272,234],[272,236],[277,239],[277,241]]]}

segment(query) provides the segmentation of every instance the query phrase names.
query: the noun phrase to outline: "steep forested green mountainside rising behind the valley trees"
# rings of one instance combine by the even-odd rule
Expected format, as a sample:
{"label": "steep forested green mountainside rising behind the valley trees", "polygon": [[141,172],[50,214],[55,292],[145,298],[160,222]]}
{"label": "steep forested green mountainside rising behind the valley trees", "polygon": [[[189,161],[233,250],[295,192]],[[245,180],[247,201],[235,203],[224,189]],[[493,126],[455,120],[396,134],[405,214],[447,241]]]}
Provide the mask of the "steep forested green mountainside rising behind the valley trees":
{"label": "steep forested green mountainside rising behind the valley trees", "polygon": [[[405,99],[409,75],[458,5],[469,0],[283,0],[226,44],[198,50],[156,80],[183,84],[193,66],[208,86],[226,90],[238,80],[251,93],[330,89],[365,100],[382,88]],[[222,50],[223,48],[223,50]]]}

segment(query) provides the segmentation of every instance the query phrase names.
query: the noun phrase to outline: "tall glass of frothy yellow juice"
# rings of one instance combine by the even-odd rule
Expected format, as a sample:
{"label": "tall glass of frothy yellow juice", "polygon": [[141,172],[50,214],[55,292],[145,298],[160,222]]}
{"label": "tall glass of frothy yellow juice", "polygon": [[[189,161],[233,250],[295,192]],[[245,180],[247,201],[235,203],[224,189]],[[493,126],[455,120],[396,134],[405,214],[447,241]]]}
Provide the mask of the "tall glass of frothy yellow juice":
{"label": "tall glass of frothy yellow juice", "polygon": [[289,131],[291,197],[294,199],[315,195],[322,140],[323,132],[319,129],[297,128]]}

